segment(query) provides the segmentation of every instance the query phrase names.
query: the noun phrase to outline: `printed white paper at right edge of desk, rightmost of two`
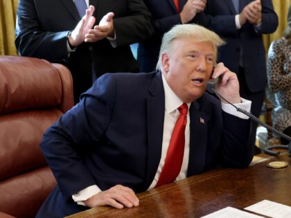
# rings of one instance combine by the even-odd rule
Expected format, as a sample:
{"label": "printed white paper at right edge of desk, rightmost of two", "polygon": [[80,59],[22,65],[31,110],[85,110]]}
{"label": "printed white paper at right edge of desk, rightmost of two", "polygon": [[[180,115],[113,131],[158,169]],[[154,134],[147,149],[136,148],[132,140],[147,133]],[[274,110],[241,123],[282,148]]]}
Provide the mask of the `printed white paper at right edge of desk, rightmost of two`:
{"label": "printed white paper at right edge of desk, rightmost of two", "polygon": [[258,203],[248,206],[245,210],[250,210],[252,212],[259,213],[268,217],[274,218],[290,218],[291,217],[291,207],[283,205],[281,203],[276,203],[274,201],[263,200]]}

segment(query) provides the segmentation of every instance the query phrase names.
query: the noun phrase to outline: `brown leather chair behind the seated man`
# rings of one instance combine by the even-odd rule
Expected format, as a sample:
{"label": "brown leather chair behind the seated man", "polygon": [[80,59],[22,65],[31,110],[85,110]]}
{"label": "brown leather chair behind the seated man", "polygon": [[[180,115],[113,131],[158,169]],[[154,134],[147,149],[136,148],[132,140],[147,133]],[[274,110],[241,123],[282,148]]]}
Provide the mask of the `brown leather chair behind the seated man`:
{"label": "brown leather chair behind the seated man", "polygon": [[65,66],[0,56],[0,217],[35,217],[55,187],[39,143],[71,107],[73,82]]}

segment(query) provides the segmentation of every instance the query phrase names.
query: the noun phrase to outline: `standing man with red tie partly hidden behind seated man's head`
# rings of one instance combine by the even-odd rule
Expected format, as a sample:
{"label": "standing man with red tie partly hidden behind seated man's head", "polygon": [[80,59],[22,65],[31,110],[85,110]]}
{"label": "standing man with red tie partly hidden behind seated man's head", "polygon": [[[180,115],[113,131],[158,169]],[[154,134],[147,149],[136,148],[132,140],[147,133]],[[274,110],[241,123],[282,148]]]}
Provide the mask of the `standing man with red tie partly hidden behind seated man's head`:
{"label": "standing man with red tie partly hidden behind seated man's head", "polygon": [[147,40],[139,43],[137,59],[141,72],[155,71],[161,47],[161,37],[176,24],[200,24],[209,26],[210,19],[202,12],[206,0],[144,0],[152,14],[155,33]]}

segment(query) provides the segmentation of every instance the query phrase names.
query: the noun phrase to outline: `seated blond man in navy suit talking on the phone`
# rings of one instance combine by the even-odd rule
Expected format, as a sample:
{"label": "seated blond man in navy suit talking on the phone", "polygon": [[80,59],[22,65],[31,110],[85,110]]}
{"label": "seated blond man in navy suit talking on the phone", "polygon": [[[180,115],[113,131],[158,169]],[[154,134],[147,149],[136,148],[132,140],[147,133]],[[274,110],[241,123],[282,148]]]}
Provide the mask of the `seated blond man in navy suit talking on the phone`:
{"label": "seated blond man in navy suit talking on the phone", "polygon": [[[98,78],[44,134],[40,147],[58,187],[37,217],[64,217],[85,206],[131,208],[139,206],[136,192],[218,165],[247,167],[253,156],[249,120],[205,93],[222,43],[202,26],[178,25],[164,35],[159,71]],[[221,78],[216,90],[222,96],[250,109],[235,73],[219,63],[212,76]],[[179,134],[178,121],[184,125]],[[177,135],[179,153],[171,146]],[[162,181],[172,161],[179,164],[168,173],[175,167],[176,174]]]}

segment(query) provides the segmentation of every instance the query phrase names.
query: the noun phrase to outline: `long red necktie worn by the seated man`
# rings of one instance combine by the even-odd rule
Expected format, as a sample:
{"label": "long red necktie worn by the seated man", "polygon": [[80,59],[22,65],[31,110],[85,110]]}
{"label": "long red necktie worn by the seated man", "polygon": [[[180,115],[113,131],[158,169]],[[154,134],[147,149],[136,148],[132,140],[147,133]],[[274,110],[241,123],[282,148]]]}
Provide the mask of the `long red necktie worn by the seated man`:
{"label": "long red necktie worn by the seated man", "polygon": [[173,129],[165,164],[155,187],[175,181],[182,167],[188,105],[184,103],[178,110],[180,115]]}

